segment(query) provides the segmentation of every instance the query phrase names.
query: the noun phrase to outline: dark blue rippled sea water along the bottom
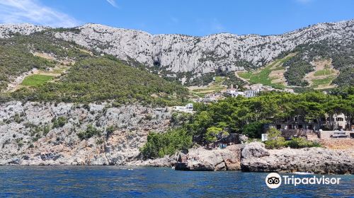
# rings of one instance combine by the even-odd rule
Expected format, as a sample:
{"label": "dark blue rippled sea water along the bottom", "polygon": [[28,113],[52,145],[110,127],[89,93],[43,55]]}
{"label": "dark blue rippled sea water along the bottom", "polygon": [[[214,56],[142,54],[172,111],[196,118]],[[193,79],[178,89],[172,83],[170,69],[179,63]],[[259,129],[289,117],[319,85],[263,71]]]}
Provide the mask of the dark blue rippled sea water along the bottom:
{"label": "dark blue rippled sea water along the bottom", "polygon": [[[132,170],[130,170],[132,169]],[[183,172],[114,166],[0,166],[0,197],[354,197],[340,185],[265,185],[267,173]]]}

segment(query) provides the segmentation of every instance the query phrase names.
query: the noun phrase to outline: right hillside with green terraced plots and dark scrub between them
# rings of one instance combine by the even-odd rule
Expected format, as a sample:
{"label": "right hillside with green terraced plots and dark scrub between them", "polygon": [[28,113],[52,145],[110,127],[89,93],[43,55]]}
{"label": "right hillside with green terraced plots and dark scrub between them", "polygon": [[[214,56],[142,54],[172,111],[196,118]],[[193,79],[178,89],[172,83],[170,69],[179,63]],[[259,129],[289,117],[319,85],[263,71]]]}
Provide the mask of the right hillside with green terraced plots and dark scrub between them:
{"label": "right hillside with green terraced plots and dark scrub between them", "polygon": [[275,62],[265,67],[236,74],[249,83],[274,88],[354,86],[353,42],[346,46],[331,42],[299,45],[295,50],[280,54]]}

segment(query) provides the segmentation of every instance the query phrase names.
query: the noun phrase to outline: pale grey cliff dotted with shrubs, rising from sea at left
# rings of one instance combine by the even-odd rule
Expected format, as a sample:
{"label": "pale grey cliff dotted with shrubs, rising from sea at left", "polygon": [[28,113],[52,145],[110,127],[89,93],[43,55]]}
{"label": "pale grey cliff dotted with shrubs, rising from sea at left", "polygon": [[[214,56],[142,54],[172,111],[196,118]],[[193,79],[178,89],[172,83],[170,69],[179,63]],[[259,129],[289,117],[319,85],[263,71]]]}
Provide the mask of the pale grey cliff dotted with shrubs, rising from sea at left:
{"label": "pale grey cliff dotted with shrubs, rising from sea at left", "polygon": [[170,115],[141,105],[5,103],[0,165],[124,165],[139,158],[149,132],[169,127]]}

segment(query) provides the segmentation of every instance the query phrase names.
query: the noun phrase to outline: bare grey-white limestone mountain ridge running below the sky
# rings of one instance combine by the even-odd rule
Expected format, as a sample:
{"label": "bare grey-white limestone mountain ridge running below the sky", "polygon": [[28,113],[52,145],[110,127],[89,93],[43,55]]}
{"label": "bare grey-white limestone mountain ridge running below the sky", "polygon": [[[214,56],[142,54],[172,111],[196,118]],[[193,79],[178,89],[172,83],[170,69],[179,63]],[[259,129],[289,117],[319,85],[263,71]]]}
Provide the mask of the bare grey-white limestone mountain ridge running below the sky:
{"label": "bare grey-white limestone mountain ridge running below the sky", "polygon": [[[114,55],[130,64],[144,64],[150,71],[155,71],[161,76],[178,78],[183,83],[192,82],[195,78],[215,74],[218,71],[256,69],[299,46],[326,42],[331,44],[331,50],[338,51],[338,47],[341,47],[341,50],[350,47],[354,40],[354,20],[319,23],[282,35],[220,33],[205,37],[152,35],[139,30],[126,30],[92,23],[69,29],[50,29],[29,24],[1,25],[0,37],[42,30],[52,31],[59,39],[75,42],[90,50]],[[317,55],[321,57],[326,54],[319,52]],[[351,51],[349,54],[340,55],[353,57]],[[307,55],[302,54],[300,59],[307,59]],[[308,59],[306,61],[312,62]],[[307,65],[307,67],[312,66]],[[305,69],[305,71],[307,74],[312,69]],[[300,77],[304,78],[305,74]],[[285,78],[287,81],[297,81],[293,76],[285,75]],[[297,83],[290,83],[290,85],[297,85]],[[301,85],[306,86],[307,83]]]}

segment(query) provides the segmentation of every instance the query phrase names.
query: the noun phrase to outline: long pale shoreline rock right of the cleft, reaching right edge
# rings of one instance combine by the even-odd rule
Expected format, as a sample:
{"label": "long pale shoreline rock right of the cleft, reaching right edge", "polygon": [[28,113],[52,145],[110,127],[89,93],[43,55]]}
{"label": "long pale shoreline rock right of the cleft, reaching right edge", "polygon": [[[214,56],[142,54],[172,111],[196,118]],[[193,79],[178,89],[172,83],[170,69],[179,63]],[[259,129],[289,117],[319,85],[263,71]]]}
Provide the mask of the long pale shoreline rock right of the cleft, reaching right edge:
{"label": "long pale shoreline rock right of the cleft, reaching right edge", "polygon": [[[253,145],[259,150],[260,144]],[[249,148],[247,148],[249,147]],[[244,149],[250,149],[252,145]],[[263,148],[266,150],[265,148]],[[245,150],[244,150],[245,151]],[[268,150],[265,156],[244,156],[241,169],[252,172],[313,172],[316,174],[354,174],[353,151],[326,148],[283,148]],[[246,153],[245,153],[246,154]]]}

